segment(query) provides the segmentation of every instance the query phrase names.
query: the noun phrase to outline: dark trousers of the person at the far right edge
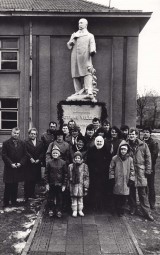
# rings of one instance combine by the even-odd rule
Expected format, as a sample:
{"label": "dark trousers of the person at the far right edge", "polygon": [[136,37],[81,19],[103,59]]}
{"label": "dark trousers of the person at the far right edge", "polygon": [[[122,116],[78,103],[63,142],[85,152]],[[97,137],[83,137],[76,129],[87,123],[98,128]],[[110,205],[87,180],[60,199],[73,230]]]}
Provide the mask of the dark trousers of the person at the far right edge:
{"label": "dark trousers of the person at the far right edge", "polygon": [[156,202],[156,193],[155,193],[155,187],[154,187],[154,179],[155,179],[155,171],[153,171],[151,174],[147,176],[147,194],[148,194],[148,200],[150,207],[155,207]]}

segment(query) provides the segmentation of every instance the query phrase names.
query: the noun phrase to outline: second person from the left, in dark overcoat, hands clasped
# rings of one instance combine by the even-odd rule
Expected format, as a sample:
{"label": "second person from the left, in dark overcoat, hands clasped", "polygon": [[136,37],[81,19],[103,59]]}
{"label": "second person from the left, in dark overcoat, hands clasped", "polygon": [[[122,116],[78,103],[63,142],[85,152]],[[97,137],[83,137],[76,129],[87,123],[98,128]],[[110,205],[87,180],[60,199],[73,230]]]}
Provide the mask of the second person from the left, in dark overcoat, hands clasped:
{"label": "second person from the left, in dark overcoat, hands clasped", "polygon": [[31,128],[28,131],[29,139],[26,143],[27,165],[25,171],[24,197],[35,198],[35,186],[41,180],[41,166],[44,158],[43,142],[37,139],[37,129]]}

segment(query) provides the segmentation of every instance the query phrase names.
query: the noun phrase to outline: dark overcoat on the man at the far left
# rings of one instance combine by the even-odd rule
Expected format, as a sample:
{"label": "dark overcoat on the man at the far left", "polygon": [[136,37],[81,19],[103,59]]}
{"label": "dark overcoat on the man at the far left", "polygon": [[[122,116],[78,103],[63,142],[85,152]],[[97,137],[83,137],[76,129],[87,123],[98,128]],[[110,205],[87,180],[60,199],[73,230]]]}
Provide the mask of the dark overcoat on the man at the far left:
{"label": "dark overcoat on the man at the far left", "polygon": [[[2,159],[4,161],[4,182],[16,183],[24,181],[25,164],[27,161],[25,143],[18,140],[17,147],[15,147],[13,138],[5,141],[2,146]],[[20,163],[21,167],[12,168],[11,164],[13,163]]]}

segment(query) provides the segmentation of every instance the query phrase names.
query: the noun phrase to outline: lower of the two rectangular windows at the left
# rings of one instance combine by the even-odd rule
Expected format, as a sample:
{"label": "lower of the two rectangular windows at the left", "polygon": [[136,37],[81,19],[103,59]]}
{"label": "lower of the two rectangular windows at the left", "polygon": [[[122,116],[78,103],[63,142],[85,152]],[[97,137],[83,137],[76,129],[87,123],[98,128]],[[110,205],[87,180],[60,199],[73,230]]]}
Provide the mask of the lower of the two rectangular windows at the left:
{"label": "lower of the two rectangular windows at the left", "polygon": [[0,99],[0,130],[18,126],[18,100]]}

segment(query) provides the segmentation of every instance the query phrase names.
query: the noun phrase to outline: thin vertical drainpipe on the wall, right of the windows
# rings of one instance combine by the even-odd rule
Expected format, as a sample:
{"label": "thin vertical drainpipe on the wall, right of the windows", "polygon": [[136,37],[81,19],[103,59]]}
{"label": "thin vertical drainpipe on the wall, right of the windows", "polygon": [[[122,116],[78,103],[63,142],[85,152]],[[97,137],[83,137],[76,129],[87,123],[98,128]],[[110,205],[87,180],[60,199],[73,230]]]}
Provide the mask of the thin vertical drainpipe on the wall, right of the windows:
{"label": "thin vertical drainpipe on the wall, right of the windows", "polygon": [[32,21],[29,22],[29,128],[33,127],[32,120]]}

